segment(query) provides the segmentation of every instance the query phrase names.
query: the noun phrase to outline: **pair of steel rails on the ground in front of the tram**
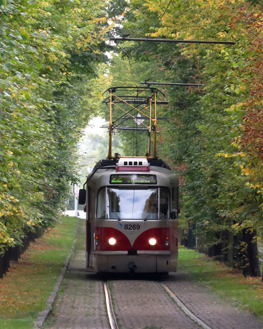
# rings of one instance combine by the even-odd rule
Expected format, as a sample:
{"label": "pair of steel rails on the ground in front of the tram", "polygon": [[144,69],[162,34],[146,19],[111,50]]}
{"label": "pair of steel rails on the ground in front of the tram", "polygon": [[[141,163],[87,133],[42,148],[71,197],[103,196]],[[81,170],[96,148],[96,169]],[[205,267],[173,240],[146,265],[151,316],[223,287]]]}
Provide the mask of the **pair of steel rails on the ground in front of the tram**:
{"label": "pair of steel rails on the ground in front of the tram", "polygon": [[[148,281],[145,281],[145,282],[147,283]],[[151,282],[151,281],[149,281],[149,282]],[[168,296],[172,297],[172,299],[174,300],[176,305],[179,306],[179,309],[181,310],[181,312],[186,314],[187,317],[191,318],[193,321],[195,321],[195,323],[198,325],[198,327],[200,327],[202,329],[212,329],[212,327],[210,327],[208,324],[204,323],[200,318],[198,318],[196,315],[194,315],[191,312],[191,310],[178,297],[176,297],[176,294],[174,293],[174,291],[172,291],[170,288],[168,288],[165,283],[163,283],[161,281],[154,281],[154,283],[155,284],[158,283],[158,285],[160,285],[162,287],[162,291],[165,291],[166,296],[168,295]],[[106,300],[108,319],[109,319],[109,323],[110,323],[110,329],[119,329],[118,323],[117,323],[117,320],[115,317],[114,308],[112,306],[111,294],[110,294],[107,280],[103,281],[103,285],[104,285],[104,291],[105,291],[105,300]],[[118,298],[118,296],[116,296],[116,298]],[[174,309],[174,312],[176,312],[176,309]]]}

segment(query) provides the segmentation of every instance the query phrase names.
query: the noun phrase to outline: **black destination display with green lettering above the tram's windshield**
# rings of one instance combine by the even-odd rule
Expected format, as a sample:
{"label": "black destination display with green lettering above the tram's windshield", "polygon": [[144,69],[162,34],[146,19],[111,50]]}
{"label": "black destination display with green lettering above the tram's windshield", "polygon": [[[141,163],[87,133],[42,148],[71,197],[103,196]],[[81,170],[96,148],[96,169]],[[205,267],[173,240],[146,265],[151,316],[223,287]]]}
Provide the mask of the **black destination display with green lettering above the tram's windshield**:
{"label": "black destination display with green lettering above the tram's windshield", "polygon": [[109,184],[157,184],[156,175],[114,174],[110,175]]}

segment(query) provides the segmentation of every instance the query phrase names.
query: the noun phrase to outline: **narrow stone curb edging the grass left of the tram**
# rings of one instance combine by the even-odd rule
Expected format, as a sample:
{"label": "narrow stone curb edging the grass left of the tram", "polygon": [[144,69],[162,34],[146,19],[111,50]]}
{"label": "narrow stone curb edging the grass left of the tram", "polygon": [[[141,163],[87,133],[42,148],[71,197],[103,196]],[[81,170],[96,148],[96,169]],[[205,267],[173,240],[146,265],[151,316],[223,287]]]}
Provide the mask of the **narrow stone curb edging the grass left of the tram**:
{"label": "narrow stone curb edging the grass left of the tram", "polygon": [[[76,230],[75,230],[75,235],[78,232],[79,224],[80,224],[80,218],[78,219],[77,227],[76,227]],[[57,294],[58,294],[58,291],[59,291],[59,287],[60,287],[60,285],[61,285],[61,283],[62,283],[62,281],[63,281],[63,279],[65,277],[65,273],[66,273],[66,270],[68,268],[70,257],[72,255],[72,252],[74,250],[75,245],[76,245],[76,239],[74,239],[74,241],[73,241],[73,245],[72,245],[72,247],[71,247],[71,249],[69,251],[69,254],[67,255],[67,258],[66,258],[66,260],[64,262],[64,266],[63,266],[63,268],[62,268],[62,270],[60,272],[60,275],[58,277],[57,282],[55,283],[54,289],[53,289],[52,293],[48,297],[48,300],[46,302],[46,308],[43,309],[41,312],[39,312],[39,315],[37,316],[37,320],[34,322],[34,329],[42,328],[44,321],[52,313],[52,309],[53,309],[53,306],[54,306],[55,298],[57,297]]]}

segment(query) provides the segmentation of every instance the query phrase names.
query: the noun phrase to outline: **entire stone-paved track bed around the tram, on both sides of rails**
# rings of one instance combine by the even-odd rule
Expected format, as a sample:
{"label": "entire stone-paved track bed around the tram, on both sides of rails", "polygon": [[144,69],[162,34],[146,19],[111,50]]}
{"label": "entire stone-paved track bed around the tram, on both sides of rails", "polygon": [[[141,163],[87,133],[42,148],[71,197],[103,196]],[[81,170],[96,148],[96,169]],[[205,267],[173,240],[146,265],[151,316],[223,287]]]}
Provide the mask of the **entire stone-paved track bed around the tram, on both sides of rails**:
{"label": "entire stone-paved track bed around the tram, on both sides of rails", "polygon": [[[80,220],[73,254],[57,307],[45,328],[109,329],[102,276],[85,271],[85,220]],[[119,329],[197,329],[154,276],[107,276]],[[249,312],[224,302],[189,279],[171,273],[163,282],[203,322],[213,329],[263,328]]]}

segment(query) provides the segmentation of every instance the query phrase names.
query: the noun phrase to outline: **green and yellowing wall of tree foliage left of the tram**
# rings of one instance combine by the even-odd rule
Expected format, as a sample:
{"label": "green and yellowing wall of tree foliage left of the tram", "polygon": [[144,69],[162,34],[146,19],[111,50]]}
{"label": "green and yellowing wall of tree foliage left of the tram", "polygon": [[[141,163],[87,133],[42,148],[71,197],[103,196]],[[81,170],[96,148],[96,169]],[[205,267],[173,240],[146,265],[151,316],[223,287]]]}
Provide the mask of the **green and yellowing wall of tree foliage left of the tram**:
{"label": "green and yellowing wall of tree foliage left of the tram", "polygon": [[52,225],[76,180],[81,129],[106,81],[104,6],[0,1],[0,254]]}

